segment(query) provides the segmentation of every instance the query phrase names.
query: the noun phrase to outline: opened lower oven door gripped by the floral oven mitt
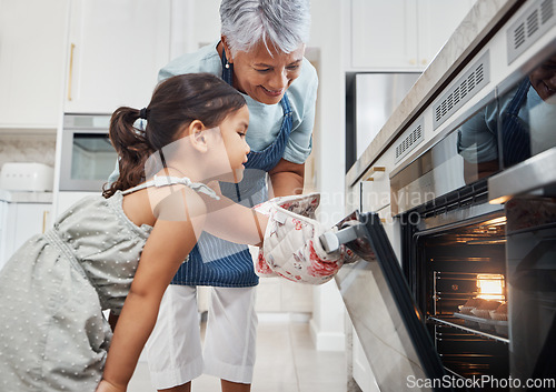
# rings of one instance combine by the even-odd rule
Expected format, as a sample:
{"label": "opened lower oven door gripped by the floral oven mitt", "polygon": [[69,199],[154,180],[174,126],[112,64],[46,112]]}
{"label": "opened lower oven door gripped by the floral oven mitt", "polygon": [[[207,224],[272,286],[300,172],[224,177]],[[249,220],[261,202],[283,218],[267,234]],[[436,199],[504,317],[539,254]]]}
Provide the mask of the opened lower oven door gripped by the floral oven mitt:
{"label": "opened lower oven door gripped by the floral oven mitt", "polygon": [[448,391],[380,219],[375,213],[358,219],[365,228],[347,245],[366,260],[344,265],[336,283],[380,390]]}

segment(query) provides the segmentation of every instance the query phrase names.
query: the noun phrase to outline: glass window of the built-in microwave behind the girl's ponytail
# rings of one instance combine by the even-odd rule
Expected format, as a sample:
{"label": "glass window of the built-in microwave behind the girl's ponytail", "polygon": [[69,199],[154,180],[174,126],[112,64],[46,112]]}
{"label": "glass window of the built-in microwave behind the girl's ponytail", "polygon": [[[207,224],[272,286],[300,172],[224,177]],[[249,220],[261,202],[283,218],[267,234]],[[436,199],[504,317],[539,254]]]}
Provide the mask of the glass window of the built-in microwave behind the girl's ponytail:
{"label": "glass window of the built-in microwave behind the girl's ponytail", "polygon": [[113,171],[117,153],[106,133],[75,133],[71,179],[107,180]]}

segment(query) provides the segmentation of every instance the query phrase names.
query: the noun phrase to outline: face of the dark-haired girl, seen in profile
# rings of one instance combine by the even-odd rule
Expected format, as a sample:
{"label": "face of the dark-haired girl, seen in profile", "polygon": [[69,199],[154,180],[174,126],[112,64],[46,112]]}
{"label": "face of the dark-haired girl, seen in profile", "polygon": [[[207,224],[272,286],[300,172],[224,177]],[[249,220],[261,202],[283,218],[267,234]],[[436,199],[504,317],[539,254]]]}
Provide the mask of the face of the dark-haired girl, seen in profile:
{"label": "face of the dark-haired girl, seen in profile", "polygon": [[[247,104],[241,109],[231,112],[220,123],[220,134],[228,155],[228,174],[222,175],[220,180],[238,183],[244,179],[244,163],[247,162],[247,154],[250,151],[249,144],[245,140],[247,127],[249,125],[249,109]],[[218,159],[222,159],[219,157]]]}

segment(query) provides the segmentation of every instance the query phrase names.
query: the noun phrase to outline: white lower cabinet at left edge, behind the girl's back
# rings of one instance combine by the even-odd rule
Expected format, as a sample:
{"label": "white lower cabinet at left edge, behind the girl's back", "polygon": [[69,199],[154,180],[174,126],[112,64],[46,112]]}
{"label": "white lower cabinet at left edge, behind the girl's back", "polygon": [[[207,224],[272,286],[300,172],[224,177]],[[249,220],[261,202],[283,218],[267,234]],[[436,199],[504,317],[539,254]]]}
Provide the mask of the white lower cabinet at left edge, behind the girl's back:
{"label": "white lower cabinet at left edge, behind the girl's back", "polygon": [[0,269],[32,235],[51,224],[52,203],[0,201]]}

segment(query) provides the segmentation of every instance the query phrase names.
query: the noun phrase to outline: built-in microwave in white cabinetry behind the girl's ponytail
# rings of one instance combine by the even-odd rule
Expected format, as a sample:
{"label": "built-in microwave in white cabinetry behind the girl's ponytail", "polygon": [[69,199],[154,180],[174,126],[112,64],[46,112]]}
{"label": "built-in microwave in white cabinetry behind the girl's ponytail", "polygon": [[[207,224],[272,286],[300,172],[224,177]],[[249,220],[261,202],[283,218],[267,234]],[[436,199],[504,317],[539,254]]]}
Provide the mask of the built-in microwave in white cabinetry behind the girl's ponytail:
{"label": "built-in microwave in white cabinetry behind the girl's ponytail", "polygon": [[109,124],[109,114],[64,114],[60,191],[102,190],[117,161]]}

